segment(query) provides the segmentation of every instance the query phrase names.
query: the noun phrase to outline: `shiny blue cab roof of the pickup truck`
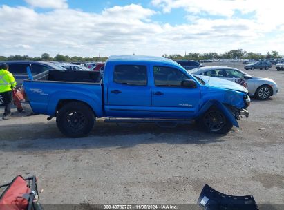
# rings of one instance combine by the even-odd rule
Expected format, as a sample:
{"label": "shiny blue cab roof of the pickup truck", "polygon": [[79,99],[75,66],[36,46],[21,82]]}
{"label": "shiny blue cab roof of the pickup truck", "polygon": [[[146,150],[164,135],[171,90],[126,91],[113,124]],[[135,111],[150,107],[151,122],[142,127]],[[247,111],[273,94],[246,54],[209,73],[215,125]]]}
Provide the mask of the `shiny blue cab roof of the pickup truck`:
{"label": "shiny blue cab roof of the pickup truck", "polygon": [[148,55],[111,55],[107,61],[145,61],[151,62],[163,62],[167,64],[178,65],[175,61],[164,57],[148,56]]}

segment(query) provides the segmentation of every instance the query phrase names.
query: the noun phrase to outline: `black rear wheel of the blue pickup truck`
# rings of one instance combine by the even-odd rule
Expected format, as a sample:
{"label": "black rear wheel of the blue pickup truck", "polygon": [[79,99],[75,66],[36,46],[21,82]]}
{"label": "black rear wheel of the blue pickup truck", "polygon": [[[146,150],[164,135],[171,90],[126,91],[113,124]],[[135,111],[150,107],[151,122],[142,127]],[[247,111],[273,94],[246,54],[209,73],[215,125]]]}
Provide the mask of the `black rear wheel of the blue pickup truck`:
{"label": "black rear wheel of the blue pickup truck", "polygon": [[67,137],[85,137],[94,126],[95,115],[88,105],[70,102],[59,110],[56,123],[59,131]]}

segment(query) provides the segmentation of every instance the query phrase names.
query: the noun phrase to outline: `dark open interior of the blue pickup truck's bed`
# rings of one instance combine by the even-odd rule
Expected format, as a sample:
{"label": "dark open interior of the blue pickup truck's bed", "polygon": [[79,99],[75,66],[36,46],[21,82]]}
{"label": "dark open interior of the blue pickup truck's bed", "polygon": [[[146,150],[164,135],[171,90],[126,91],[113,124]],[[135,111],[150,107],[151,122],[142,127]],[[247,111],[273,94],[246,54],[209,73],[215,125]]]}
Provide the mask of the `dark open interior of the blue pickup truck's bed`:
{"label": "dark open interior of the blue pickup truck's bed", "polygon": [[44,73],[35,75],[33,78],[34,81],[38,82],[79,82],[93,84],[99,84],[101,79],[100,72],[83,70],[47,70]]}

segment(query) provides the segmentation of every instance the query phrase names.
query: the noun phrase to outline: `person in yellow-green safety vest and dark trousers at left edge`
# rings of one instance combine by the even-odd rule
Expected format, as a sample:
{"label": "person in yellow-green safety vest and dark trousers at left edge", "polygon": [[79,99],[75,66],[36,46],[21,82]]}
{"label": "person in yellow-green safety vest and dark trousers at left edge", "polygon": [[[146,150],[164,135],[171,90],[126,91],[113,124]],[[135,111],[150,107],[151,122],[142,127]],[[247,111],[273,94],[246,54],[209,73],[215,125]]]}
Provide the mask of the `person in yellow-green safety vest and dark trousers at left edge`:
{"label": "person in yellow-green safety vest and dark trousers at left edge", "polygon": [[9,71],[7,64],[0,64],[0,94],[3,97],[5,105],[5,112],[3,113],[3,120],[7,120],[11,116],[12,106],[12,89],[15,88],[17,82],[14,76]]}

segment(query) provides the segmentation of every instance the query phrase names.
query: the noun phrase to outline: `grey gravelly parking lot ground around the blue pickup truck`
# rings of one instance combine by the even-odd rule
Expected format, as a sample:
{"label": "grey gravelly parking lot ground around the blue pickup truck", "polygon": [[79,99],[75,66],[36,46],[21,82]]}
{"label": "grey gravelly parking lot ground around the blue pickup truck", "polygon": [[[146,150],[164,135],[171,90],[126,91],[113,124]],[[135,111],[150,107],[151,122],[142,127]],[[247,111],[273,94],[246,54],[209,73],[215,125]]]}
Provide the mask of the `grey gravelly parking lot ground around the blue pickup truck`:
{"label": "grey gravelly parking lot ground around the blue pickup truck", "polygon": [[37,175],[44,204],[196,204],[205,183],[254,195],[258,204],[284,204],[284,71],[247,72],[274,79],[280,92],[252,100],[249,118],[227,135],[100,120],[89,137],[68,139],[55,120],[14,110],[0,121],[0,181]]}

